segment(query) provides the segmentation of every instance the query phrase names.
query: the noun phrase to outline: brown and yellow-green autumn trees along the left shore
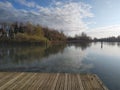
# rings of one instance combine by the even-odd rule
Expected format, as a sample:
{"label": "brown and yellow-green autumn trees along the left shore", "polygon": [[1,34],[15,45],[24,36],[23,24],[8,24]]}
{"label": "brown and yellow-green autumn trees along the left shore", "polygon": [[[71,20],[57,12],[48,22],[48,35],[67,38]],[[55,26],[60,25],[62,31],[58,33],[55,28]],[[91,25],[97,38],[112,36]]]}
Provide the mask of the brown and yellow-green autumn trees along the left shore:
{"label": "brown and yellow-green autumn trees along the left shore", "polygon": [[66,41],[66,36],[63,32],[34,25],[30,22],[1,23],[0,41],[48,43],[53,41]]}

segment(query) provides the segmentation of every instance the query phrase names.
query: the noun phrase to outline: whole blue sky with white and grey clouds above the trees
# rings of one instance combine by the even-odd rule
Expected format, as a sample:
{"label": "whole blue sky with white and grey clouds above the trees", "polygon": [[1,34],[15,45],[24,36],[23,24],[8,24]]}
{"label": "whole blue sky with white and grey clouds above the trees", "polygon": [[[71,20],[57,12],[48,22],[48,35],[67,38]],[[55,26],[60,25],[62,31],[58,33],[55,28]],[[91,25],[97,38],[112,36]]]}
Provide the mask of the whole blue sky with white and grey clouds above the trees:
{"label": "whole blue sky with white and grey clouds above the trees", "polygon": [[32,22],[91,37],[120,35],[120,0],[0,0],[0,22]]}

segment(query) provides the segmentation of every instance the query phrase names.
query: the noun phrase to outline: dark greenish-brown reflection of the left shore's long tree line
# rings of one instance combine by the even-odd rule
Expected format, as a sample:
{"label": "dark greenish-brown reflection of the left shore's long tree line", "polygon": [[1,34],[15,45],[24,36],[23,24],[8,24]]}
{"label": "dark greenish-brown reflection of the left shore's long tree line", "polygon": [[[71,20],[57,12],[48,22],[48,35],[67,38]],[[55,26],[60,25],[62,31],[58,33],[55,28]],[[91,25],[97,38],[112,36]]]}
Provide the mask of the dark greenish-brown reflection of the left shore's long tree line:
{"label": "dark greenish-brown reflection of the left shore's long tree line", "polygon": [[51,54],[62,52],[65,45],[61,46],[0,46],[0,64],[24,64],[41,60]]}

